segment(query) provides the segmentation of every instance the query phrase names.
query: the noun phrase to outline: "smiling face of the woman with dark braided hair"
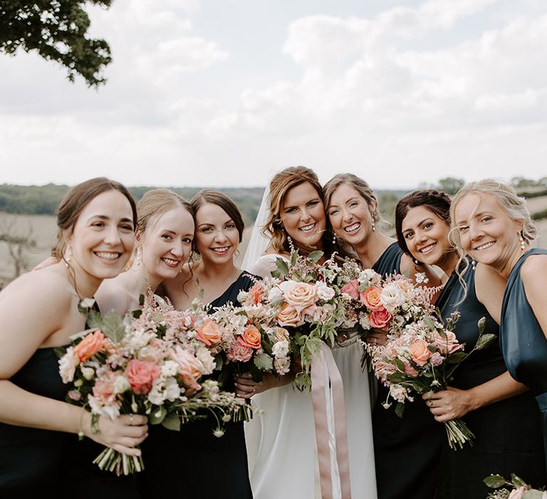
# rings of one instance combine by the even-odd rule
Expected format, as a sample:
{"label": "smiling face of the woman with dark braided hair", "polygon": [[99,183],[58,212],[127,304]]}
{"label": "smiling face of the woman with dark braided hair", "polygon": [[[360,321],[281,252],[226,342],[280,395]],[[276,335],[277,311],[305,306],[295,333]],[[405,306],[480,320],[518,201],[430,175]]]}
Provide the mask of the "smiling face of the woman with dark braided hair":
{"label": "smiling face of the woman with dark braided hair", "polygon": [[408,251],[419,262],[443,267],[447,257],[454,257],[454,248],[448,241],[448,223],[426,205],[410,208],[401,228]]}

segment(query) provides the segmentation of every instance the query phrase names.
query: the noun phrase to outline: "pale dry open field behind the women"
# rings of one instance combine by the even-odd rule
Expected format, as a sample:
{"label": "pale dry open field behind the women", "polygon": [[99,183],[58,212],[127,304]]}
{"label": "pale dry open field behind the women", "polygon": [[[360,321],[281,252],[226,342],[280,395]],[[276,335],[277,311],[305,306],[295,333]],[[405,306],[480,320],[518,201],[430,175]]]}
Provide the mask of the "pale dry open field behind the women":
{"label": "pale dry open field behind the women", "polygon": [[[547,196],[531,198],[528,201],[528,207],[532,213],[546,210]],[[536,246],[547,248],[547,219],[539,220],[537,224],[540,237]],[[6,229],[10,231],[11,235],[31,237],[36,242],[36,246],[24,252],[28,269],[31,269],[50,254],[51,246],[57,235],[56,217],[51,215],[14,215],[0,212],[0,234],[5,233]],[[245,236],[248,234],[250,234],[250,230],[246,230]],[[239,249],[239,259],[245,253],[246,245],[247,241],[244,237]],[[0,289],[13,277],[14,264],[9,257],[8,246],[6,242],[0,241]]]}

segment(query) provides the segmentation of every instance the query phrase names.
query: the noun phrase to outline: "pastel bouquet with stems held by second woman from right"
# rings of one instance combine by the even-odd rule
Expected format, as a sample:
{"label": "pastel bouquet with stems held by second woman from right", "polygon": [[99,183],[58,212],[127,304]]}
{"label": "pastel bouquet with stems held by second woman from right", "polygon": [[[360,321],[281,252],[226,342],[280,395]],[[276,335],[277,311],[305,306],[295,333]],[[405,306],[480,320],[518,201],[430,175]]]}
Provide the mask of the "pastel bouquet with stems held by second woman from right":
{"label": "pastel bouquet with stems held by second woman from right", "polygon": [[[459,317],[454,312],[446,325],[433,314],[424,314],[395,334],[389,334],[385,346],[367,347],[372,356],[375,374],[389,388],[388,398],[397,402],[395,412],[402,416],[404,403],[412,401],[412,393],[422,395],[429,391],[447,389],[457,366],[473,351],[484,349],[496,337],[484,333],[485,319],[479,321],[479,339],[474,348],[465,353],[452,331]],[[385,401],[385,406],[390,406]],[[461,419],[444,423],[449,446],[462,448],[471,443],[473,433]]]}

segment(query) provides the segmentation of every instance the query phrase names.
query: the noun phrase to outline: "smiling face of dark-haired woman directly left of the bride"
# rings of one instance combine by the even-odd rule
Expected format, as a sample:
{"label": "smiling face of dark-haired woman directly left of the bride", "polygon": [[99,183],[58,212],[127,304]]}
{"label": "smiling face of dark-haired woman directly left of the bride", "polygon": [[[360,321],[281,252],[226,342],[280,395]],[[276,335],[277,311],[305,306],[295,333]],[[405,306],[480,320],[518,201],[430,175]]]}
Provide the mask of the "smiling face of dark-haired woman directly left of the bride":
{"label": "smiling face of dark-haired woman directly left of the bride", "polygon": [[232,264],[239,246],[239,231],[221,207],[205,203],[196,212],[195,240],[204,262]]}

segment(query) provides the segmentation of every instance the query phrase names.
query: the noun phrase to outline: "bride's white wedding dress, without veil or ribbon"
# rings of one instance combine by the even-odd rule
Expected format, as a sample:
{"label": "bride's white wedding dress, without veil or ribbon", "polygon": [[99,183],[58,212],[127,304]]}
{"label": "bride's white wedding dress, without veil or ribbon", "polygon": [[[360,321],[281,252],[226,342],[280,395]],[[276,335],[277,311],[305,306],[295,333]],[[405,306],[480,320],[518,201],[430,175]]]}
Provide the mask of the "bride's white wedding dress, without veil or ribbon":
{"label": "bride's white wedding dress, without veil or ribbon", "polygon": [[[258,259],[249,272],[266,277],[276,254]],[[376,499],[369,378],[360,368],[363,346],[355,340],[332,349],[343,379],[353,499]],[[254,499],[321,499],[311,393],[292,384],[251,398],[255,411],[245,423]],[[333,483],[333,499],[340,497]]]}

